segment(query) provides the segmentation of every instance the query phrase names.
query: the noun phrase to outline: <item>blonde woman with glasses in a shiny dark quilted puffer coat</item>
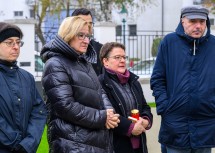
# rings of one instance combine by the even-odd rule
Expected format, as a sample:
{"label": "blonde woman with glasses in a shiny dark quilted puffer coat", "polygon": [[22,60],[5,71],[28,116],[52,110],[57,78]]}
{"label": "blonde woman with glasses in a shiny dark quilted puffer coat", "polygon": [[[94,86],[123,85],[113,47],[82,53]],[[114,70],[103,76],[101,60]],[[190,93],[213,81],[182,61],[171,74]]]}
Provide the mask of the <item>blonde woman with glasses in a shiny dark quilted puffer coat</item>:
{"label": "blonde woman with glasses in a shiny dark quilted puffer coat", "polygon": [[85,20],[68,17],[41,51],[51,153],[113,153],[108,129],[118,125],[119,115],[88,62],[96,57],[93,50],[85,54],[90,38]]}

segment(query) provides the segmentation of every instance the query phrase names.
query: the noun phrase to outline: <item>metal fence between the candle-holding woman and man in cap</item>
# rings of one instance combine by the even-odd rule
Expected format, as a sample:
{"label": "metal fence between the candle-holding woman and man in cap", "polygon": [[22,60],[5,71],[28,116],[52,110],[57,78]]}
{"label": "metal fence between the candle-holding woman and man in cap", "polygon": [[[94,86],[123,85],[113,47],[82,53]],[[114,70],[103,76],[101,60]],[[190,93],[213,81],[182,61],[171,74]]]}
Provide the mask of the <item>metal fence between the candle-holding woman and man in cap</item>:
{"label": "metal fence between the candle-holding woman and man in cap", "polygon": [[150,77],[156,52],[161,39],[170,31],[137,31],[135,35],[116,36],[116,41],[124,43],[128,56],[127,67],[130,71],[142,77]]}

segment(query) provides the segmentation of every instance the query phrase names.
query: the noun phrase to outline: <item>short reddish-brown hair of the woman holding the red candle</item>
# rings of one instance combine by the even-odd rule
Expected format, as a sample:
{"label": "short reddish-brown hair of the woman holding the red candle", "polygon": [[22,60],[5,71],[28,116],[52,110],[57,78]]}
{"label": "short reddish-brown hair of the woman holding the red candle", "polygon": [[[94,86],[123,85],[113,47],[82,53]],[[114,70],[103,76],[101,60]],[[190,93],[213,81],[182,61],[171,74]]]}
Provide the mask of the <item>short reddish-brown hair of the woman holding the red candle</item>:
{"label": "short reddish-brown hair of the woman holding the red candle", "polygon": [[100,61],[103,65],[103,59],[107,58],[109,56],[109,53],[114,49],[114,48],[122,48],[125,51],[125,46],[121,43],[118,42],[108,42],[104,44],[100,50],[99,58]]}

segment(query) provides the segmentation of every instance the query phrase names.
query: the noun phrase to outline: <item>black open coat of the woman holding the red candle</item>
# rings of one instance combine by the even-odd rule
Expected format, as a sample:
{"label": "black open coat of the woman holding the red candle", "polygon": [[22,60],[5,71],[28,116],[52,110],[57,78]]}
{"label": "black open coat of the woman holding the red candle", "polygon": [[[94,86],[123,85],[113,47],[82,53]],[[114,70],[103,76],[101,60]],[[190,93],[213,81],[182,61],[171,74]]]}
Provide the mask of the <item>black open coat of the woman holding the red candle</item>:
{"label": "black open coat of the woman holding the red candle", "polygon": [[[115,153],[133,153],[130,137],[126,136],[128,129],[131,125],[131,121],[128,120],[130,114],[127,113],[126,101],[124,100],[122,93],[117,86],[111,81],[113,77],[107,71],[99,76],[100,83],[103,89],[106,91],[108,98],[116,113],[120,114],[120,123],[116,127],[113,135],[113,145]],[[118,81],[118,80],[116,80]],[[138,76],[130,72],[130,78],[128,83],[131,87],[131,91],[138,105],[140,116],[147,116],[152,124],[153,116],[150,107],[147,105],[143,95],[143,91],[140,83],[138,82]],[[146,146],[146,135],[141,134],[141,148],[143,153],[148,153]]]}

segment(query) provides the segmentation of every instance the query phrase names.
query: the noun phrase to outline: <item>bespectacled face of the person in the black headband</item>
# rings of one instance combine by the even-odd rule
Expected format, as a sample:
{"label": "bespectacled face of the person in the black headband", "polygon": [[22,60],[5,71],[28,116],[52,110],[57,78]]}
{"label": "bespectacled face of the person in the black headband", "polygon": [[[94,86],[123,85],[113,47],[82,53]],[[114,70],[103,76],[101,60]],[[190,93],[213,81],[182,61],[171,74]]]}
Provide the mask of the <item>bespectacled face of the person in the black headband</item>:
{"label": "bespectacled face of the person in the black headband", "polygon": [[[18,37],[10,37],[0,43],[0,59],[14,62],[19,57],[20,42]],[[12,45],[13,44],[13,45]],[[12,46],[9,46],[12,45]]]}

